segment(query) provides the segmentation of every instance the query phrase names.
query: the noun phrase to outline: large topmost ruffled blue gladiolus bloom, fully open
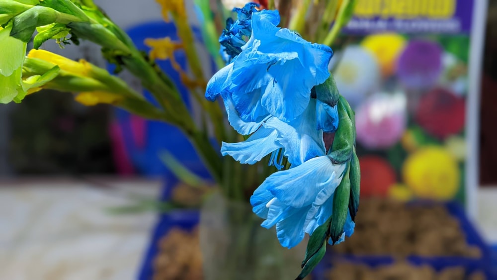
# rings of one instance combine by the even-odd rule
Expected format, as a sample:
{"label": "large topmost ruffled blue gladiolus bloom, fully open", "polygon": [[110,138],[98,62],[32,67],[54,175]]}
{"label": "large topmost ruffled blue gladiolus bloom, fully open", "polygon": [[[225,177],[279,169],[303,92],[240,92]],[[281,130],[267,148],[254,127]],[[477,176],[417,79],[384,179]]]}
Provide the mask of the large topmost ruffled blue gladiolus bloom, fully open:
{"label": "large topmost ruffled blue gladiolus bloom, fully open", "polygon": [[277,11],[252,12],[250,39],[207,86],[207,99],[226,93],[245,122],[269,115],[284,122],[296,119],[308,107],[311,89],[330,77],[331,48],[278,23]]}

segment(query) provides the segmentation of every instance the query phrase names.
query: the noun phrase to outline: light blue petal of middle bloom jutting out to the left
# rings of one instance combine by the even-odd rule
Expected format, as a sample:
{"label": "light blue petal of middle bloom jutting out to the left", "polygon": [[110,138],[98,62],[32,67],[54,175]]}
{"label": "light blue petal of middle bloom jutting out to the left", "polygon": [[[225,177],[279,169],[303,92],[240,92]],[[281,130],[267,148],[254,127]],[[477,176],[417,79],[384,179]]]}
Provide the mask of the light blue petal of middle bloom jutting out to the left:
{"label": "light blue petal of middle bloom jutting out to the left", "polygon": [[254,164],[272,151],[280,148],[276,142],[276,137],[277,131],[261,127],[244,142],[223,142],[221,154],[223,156],[230,155],[244,164]]}

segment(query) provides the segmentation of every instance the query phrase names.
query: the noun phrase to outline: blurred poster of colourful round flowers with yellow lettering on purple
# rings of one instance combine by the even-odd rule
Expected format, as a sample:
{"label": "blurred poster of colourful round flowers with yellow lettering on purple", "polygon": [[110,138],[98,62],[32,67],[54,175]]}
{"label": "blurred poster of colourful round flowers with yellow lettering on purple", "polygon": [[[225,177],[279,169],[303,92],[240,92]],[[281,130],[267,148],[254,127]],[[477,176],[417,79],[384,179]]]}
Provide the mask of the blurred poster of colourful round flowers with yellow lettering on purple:
{"label": "blurred poster of colourful round flowers with yellow lettering on purple", "polygon": [[465,203],[476,2],[358,0],[330,67],[356,112],[362,196]]}

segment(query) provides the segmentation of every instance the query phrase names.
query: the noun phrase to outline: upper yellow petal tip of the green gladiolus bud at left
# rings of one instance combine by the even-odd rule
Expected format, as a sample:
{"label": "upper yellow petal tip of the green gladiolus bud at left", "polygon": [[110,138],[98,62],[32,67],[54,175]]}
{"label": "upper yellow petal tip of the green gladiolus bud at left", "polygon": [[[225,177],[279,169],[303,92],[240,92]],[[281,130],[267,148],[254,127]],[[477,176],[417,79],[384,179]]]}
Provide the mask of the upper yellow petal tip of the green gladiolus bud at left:
{"label": "upper yellow petal tip of the green gladiolus bud at left", "polygon": [[29,58],[41,59],[55,65],[58,65],[61,70],[70,72],[72,74],[87,77],[88,73],[91,71],[91,65],[87,63],[84,59],[79,62],[71,60],[67,57],[60,56],[45,50],[35,50],[32,49],[28,53]]}

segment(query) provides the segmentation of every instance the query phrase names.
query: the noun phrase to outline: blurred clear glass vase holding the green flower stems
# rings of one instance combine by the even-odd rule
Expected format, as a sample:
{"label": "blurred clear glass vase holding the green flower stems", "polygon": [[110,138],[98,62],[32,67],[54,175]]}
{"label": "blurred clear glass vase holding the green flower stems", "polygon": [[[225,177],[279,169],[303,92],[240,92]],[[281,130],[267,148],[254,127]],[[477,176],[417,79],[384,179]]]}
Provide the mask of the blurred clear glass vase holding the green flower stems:
{"label": "blurred clear glass vase holding the green flower stems", "polygon": [[248,202],[211,195],[200,211],[200,247],[205,280],[295,279],[306,242],[283,248],[276,230],[260,226]]}

